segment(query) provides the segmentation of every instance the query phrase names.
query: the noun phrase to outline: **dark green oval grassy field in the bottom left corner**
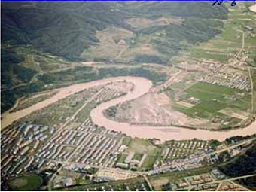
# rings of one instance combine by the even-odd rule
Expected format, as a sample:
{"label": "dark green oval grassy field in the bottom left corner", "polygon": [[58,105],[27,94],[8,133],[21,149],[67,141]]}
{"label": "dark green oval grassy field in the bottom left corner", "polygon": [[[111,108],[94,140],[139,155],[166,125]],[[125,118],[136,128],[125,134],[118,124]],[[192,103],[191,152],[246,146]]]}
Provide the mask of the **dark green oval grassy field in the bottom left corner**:
{"label": "dark green oval grassy field in the bottom left corner", "polygon": [[36,190],[41,182],[41,178],[37,175],[26,175],[9,181],[8,186],[11,190]]}

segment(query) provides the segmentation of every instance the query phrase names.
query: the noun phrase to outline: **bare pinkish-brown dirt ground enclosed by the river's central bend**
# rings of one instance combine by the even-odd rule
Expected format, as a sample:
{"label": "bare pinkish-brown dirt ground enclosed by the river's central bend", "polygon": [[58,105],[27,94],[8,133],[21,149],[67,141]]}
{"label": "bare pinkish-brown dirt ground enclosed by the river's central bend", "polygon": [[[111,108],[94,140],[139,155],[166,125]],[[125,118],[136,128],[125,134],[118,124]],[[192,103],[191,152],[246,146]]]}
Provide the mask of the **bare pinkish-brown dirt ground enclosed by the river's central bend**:
{"label": "bare pinkish-brown dirt ground enclosed by the river's central bend", "polygon": [[139,99],[119,105],[115,120],[156,126],[208,123],[207,120],[192,119],[175,111],[170,102],[169,96],[166,96],[165,93],[148,93]]}

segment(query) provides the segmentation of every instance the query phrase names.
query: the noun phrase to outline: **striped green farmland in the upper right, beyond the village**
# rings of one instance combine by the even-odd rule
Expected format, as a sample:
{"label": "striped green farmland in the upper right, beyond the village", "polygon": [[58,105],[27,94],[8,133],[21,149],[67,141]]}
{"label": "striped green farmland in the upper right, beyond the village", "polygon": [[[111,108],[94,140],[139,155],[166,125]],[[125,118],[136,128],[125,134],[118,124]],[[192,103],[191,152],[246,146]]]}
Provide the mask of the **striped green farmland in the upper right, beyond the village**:
{"label": "striped green farmland in the upper right, beyond the village", "polygon": [[[254,13],[248,11],[251,3],[240,2],[239,8],[229,8],[229,14],[223,32],[206,43],[190,49],[190,56],[197,59],[212,59],[217,62],[228,62],[242,47],[242,32],[245,33],[245,49],[255,47],[256,39],[251,35],[255,31]],[[251,31],[248,31],[251,28]]]}

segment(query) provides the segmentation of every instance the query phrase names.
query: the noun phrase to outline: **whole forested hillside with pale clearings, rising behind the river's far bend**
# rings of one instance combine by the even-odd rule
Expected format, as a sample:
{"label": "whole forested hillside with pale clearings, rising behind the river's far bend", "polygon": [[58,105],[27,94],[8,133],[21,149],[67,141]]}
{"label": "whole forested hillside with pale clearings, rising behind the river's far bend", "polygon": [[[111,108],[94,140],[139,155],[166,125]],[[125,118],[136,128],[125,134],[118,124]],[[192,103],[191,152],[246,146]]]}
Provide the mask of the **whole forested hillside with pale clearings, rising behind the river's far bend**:
{"label": "whole forested hillside with pale clearings, rising behind the river's far bend", "polygon": [[[69,68],[69,62],[93,60],[168,65],[172,56],[187,48],[184,42],[193,45],[220,34],[223,23],[219,19],[227,18],[227,9],[212,7],[212,2],[2,2],[1,9],[2,112],[11,108],[21,96],[44,90],[48,83],[68,84],[78,81],[81,75],[81,81],[90,81],[125,74],[120,70],[107,75],[92,74],[93,77],[89,77],[90,74],[84,77],[83,72],[73,76],[65,72],[56,72],[56,76],[46,74]],[[171,22],[158,22],[162,17]],[[126,22],[133,18],[156,22],[136,28]],[[96,34],[111,28],[132,34],[125,39],[125,49],[130,55],[123,56],[124,59],[118,58],[119,53],[114,51],[112,55],[107,52],[101,56],[104,49],[91,50],[106,45]],[[122,36],[118,30],[117,35]],[[116,36],[114,46],[122,38]],[[109,38],[108,34],[103,35],[106,37]],[[111,51],[112,45],[107,44],[106,50]],[[151,52],[141,53],[143,46],[152,47]],[[120,47],[116,50],[120,51]],[[78,72],[76,69],[70,72],[73,71]],[[162,79],[157,77],[157,72],[144,69],[131,70],[127,74]]]}

